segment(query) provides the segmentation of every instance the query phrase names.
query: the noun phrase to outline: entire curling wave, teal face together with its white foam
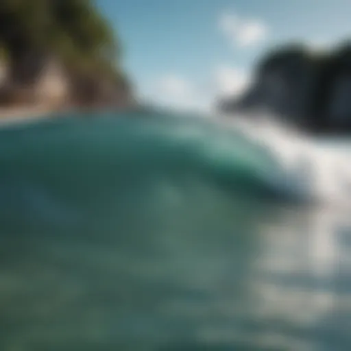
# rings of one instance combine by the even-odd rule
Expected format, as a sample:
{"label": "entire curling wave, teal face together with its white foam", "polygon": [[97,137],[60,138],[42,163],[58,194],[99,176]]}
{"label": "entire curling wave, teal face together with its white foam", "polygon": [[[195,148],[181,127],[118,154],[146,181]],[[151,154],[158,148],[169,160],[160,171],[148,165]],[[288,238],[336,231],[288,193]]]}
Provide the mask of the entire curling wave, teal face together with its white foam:
{"label": "entire curling wave, teal face together with its white foam", "polygon": [[127,203],[162,208],[204,189],[236,202],[345,206],[351,163],[341,149],[263,118],[105,113],[14,125],[0,132],[0,221],[108,222]]}

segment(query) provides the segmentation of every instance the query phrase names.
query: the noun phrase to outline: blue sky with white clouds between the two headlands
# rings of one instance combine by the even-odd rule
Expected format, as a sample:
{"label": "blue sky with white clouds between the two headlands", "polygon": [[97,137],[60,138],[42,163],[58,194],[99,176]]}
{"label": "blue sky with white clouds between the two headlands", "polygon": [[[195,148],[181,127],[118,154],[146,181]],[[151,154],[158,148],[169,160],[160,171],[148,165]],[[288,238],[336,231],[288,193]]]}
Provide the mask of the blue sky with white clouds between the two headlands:
{"label": "blue sky with white clouds between the two headlands", "polygon": [[239,94],[270,47],[351,38],[350,0],[97,0],[123,45],[138,94],[208,108]]}

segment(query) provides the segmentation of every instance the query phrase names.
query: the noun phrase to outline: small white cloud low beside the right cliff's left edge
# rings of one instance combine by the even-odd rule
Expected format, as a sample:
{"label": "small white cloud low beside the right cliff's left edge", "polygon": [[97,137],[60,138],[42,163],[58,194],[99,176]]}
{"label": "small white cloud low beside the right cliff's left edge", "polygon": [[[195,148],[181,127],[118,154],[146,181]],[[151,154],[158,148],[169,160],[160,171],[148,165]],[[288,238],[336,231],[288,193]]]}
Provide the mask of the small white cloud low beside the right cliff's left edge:
{"label": "small white cloud low beside the right cliff's left edge", "polygon": [[250,77],[241,69],[221,65],[215,71],[218,95],[221,97],[241,95],[250,85]]}

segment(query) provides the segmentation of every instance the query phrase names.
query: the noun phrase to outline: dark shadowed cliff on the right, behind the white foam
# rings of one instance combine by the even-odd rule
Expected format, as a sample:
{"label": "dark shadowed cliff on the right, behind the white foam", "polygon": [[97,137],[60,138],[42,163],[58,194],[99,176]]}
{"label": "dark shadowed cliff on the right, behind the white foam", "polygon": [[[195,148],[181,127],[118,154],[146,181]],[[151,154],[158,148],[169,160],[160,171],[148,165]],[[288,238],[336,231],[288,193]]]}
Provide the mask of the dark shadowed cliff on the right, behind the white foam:
{"label": "dark shadowed cliff on the right, behind the white foam", "polygon": [[224,112],[265,111],[311,132],[351,132],[351,52],[313,55],[302,47],[264,58],[254,83],[239,99],[221,101]]}

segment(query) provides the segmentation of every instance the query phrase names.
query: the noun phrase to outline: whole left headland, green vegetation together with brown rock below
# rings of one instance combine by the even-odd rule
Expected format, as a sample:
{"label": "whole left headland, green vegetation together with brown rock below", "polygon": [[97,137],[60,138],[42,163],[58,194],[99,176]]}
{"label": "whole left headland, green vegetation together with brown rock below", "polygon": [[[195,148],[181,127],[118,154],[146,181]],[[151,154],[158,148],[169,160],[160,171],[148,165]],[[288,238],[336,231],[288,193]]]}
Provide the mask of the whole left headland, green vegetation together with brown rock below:
{"label": "whole left headland, green vegetation together with brown rock below", "polygon": [[51,80],[64,82],[61,104],[128,104],[130,82],[121,69],[121,51],[115,30],[93,0],[2,0],[0,59],[6,74],[0,103],[37,103],[34,87],[54,66]]}

